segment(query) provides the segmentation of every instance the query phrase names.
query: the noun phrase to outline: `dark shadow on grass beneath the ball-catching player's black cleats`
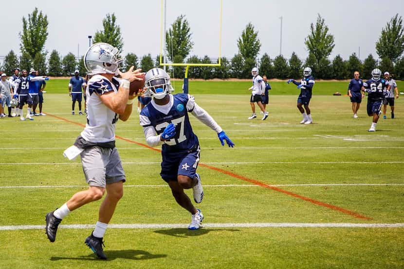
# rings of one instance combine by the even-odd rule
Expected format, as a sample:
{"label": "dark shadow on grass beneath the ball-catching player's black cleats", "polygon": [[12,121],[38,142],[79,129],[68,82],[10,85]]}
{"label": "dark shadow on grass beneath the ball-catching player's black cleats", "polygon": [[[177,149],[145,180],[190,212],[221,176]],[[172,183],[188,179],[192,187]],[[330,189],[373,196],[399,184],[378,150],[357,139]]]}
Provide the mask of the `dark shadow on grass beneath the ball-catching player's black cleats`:
{"label": "dark shadow on grass beneath the ball-catching player's black cleats", "polygon": [[[156,258],[165,258],[167,254],[151,254],[147,251],[141,250],[120,250],[120,251],[105,251],[105,255],[108,257],[106,260],[113,261],[115,259],[129,259],[129,260],[149,260]],[[92,253],[87,256],[79,256],[79,257],[51,257],[51,261],[59,261],[59,260],[97,260],[104,261],[97,258],[97,256]]]}

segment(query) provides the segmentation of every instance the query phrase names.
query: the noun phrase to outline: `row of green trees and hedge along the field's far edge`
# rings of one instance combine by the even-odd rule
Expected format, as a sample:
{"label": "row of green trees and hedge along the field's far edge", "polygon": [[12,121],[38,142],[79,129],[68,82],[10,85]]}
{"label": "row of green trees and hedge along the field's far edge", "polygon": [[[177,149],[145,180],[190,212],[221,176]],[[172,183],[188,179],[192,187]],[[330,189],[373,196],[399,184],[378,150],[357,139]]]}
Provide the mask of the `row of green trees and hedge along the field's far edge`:
{"label": "row of green trees and hedge along the field's far edge", "polygon": [[[37,8],[28,18],[22,18],[22,32],[20,36],[20,51],[17,54],[11,50],[4,58],[2,69],[6,73],[12,73],[15,67],[29,69],[33,67],[41,74],[49,76],[68,76],[78,69],[81,75],[86,70],[83,64],[83,57],[77,59],[73,53],[61,57],[58,51],[50,53],[44,50],[44,44],[48,36],[47,16],[38,11]],[[94,34],[92,42],[107,42],[122,50],[124,42],[120,26],[117,24],[115,14],[107,14],[103,19],[103,30]],[[349,79],[354,71],[359,71],[364,78],[370,77],[371,70],[378,67],[384,71],[394,74],[396,79],[404,79],[404,34],[402,17],[396,14],[387,22],[382,29],[380,37],[375,44],[375,49],[380,60],[375,59],[372,54],[362,62],[352,53],[349,59],[344,60],[340,55],[329,59],[334,48],[334,36],[325,24],[324,18],[317,17],[315,24],[311,24],[310,34],[305,38],[304,44],[309,51],[308,57],[302,61],[293,52],[290,59],[283,55],[271,58],[267,53],[258,58],[261,43],[258,32],[252,23],[248,23],[237,40],[238,52],[231,59],[221,57],[220,67],[189,67],[188,77],[198,79],[228,79],[251,78],[252,67],[259,67],[260,74],[266,74],[268,78],[298,78],[302,69],[306,66],[312,68],[312,74],[317,79]],[[184,15],[180,15],[173,22],[165,33],[165,50],[168,61],[171,63],[192,63],[210,64],[218,63],[218,59],[210,59],[205,55],[189,55],[193,48],[192,33],[189,23]],[[140,56],[140,55],[139,55]],[[130,66],[148,70],[158,67],[159,55],[152,57],[150,54],[138,55],[129,52],[125,56],[126,69]],[[183,78],[184,67],[169,67],[172,77]]]}

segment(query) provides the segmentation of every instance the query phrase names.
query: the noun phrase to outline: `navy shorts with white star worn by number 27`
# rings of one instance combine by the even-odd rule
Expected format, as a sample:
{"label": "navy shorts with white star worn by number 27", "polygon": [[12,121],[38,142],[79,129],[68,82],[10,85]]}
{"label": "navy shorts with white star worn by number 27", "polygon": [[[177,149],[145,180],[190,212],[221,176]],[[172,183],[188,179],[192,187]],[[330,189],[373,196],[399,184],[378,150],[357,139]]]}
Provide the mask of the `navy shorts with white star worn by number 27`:
{"label": "navy shorts with white star worn by number 27", "polygon": [[160,175],[165,182],[177,181],[178,175],[194,178],[200,160],[200,147],[193,152],[162,154]]}

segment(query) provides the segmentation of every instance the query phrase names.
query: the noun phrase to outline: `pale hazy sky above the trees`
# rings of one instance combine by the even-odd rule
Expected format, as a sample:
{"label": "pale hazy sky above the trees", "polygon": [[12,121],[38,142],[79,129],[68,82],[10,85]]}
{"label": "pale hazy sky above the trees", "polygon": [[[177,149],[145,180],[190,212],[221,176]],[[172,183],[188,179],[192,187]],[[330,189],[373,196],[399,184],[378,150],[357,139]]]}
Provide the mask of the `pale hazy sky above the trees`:
{"label": "pale hazy sky above the trees", "polygon": [[[27,17],[35,7],[48,16],[49,36],[45,49],[49,52],[55,49],[61,55],[68,52],[84,54],[89,44],[88,35],[102,29],[102,19],[107,13],[115,13],[124,38],[123,53],[157,55],[160,52],[161,0],[116,1],[120,3],[116,5],[111,2],[21,0],[18,8],[4,6],[0,56],[10,50],[19,54],[18,32],[22,30],[22,16]],[[191,54],[217,58],[220,1],[166,0],[166,3],[167,28],[181,14],[190,23],[195,43]],[[320,14],[335,38],[331,58],[341,54],[348,59],[352,52],[359,54],[359,47],[362,60],[369,53],[377,57],[375,42],[396,13],[404,15],[403,0],[223,0],[221,55],[231,58],[237,53],[237,39],[251,22],[261,42],[260,55],[266,52],[275,57],[280,52],[279,17],[282,16],[282,54],[289,58],[295,51],[300,58],[306,58],[304,39],[310,33],[310,24],[315,23]]]}

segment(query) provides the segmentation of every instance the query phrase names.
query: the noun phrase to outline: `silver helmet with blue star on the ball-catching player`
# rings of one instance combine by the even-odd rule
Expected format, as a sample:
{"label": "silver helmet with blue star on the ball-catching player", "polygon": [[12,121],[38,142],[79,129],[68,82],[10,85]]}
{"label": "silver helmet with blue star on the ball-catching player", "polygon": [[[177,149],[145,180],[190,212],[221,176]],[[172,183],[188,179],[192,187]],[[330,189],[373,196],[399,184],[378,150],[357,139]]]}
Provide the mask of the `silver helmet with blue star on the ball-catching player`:
{"label": "silver helmet with blue star on the ball-catching player", "polygon": [[119,74],[119,65],[124,61],[118,58],[119,50],[108,43],[93,44],[84,55],[84,67],[91,75]]}

